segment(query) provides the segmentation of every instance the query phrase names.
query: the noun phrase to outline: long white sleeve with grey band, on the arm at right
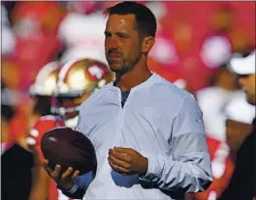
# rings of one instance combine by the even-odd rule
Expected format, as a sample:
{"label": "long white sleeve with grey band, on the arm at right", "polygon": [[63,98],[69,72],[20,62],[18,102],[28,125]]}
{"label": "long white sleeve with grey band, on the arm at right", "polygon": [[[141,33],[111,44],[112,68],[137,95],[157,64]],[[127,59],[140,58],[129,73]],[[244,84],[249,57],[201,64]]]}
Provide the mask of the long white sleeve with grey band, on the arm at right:
{"label": "long white sleeve with grey band, on the arm at right", "polygon": [[202,111],[196,100],[184,99],[177,108],[170,140],[171,156],[144,155],[148,159],[142,185],[166,191],[197,192],[212,182]]}

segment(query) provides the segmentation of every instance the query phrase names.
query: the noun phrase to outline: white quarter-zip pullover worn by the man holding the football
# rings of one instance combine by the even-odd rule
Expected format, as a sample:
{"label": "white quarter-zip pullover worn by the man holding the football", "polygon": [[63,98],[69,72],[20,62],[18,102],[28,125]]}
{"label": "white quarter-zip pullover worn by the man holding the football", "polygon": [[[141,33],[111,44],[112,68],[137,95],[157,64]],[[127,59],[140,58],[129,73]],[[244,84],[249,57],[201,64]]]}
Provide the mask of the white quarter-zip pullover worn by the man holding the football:
{"label": "white quarter-zip pullover worn by the man holding the football", "polygon": [[[211,168],[202,111],[193,96],[153,73],[132,88],[124,106],[110,83],[80,106],[77,129],[93,143],[97,172],[83,199],[179,199],[205,190]],[[109,149],[132,148],[148,159],[144,177],[109,164]],[[73,189],[74,192],[74,189]]]}

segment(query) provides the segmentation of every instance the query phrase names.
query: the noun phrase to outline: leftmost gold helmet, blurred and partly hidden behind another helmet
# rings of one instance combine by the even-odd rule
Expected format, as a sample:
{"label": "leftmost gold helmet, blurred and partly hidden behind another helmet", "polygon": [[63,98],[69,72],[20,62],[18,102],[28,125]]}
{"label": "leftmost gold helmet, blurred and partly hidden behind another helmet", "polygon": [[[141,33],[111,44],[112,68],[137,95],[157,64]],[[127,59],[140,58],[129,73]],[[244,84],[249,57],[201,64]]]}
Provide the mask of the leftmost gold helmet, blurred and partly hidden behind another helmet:
{"label": "leftmost gold helmet, blurred and partly hidden behind another helmet", "polygon": [[53,61],[44,66],[34,79],[29,88],[31,96],[52,96],[56,83],[57,75],[60,70],[58,62]]}

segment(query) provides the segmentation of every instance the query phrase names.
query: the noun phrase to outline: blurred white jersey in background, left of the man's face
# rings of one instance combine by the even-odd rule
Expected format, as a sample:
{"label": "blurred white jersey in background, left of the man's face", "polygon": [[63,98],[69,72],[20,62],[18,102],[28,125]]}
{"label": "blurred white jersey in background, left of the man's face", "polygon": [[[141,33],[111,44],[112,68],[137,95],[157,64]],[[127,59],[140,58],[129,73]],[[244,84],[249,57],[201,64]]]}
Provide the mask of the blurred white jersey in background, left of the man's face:
{"label": "blurred white jersey in background, left of the man's face", "polygon": [[58,30],[59,39],[67,47],[61,62],[87,57],[107,64],[104,49],[106,22],[107,17],[102,13],[67,14]]}

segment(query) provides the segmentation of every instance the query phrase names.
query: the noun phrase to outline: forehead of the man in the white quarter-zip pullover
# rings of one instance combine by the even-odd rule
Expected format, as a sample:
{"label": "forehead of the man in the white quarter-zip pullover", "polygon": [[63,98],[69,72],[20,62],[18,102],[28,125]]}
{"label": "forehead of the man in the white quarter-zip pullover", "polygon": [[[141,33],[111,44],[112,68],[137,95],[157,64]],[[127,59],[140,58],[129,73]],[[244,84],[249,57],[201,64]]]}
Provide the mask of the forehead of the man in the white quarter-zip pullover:
{"label": "forehead of the man in the white quarter-zip pullover", "polygon": [[134,30],[136,20],[134,14],[112,14],[106,25],[106,30]]}

